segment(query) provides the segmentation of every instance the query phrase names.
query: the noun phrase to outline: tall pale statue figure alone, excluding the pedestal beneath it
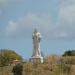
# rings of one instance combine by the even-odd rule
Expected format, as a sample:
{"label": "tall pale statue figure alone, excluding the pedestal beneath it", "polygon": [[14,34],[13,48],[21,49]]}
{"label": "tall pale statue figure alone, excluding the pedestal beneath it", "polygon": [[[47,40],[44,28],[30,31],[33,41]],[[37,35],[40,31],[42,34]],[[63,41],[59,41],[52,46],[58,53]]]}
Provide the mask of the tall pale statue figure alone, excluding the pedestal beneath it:
{"label": "tall pale statue figure alone, excluding the pedestal beneath it", "polygon": [[40,52],[41,34],[37,32],[36,29],[34,30],[32,38],[33,38],[33,56],[41,56]]}

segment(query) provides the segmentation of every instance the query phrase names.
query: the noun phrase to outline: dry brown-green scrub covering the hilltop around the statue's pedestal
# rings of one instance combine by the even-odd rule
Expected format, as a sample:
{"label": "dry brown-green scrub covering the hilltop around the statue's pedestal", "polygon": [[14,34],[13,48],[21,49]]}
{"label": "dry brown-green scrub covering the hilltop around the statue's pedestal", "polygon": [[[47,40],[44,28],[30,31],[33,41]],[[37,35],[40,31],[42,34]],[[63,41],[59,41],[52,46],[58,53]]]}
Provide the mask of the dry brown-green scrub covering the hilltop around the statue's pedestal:
{"label": "dry brown-green scrub covering the hilltop around the statue's pedestal", "polygon": [[[67,51],[68,52],[68,51]],[[71,52],[74,52],[72,50]],[[44,63],[23,63],[23,75],[75,75],[75,56],[51,55],[44,57]],[[4,62],[4,61],[3,61]],[[0,67],[0,75],[12,75],[13,66]]]}

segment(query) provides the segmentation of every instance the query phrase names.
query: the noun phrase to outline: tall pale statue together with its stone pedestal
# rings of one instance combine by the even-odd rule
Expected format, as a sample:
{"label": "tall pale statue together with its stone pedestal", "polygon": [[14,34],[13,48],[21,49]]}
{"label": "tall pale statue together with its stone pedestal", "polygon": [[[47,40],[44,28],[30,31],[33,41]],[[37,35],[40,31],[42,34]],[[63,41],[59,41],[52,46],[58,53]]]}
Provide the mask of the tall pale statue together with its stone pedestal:
{"label": "tall pale statue together with its stone pedestal", "polygon": [[33,63],[36,62],[43,63],[43,57],[41,55],[40,50],[41,34],[36,29],[33,32],[32,39],[33,39],[33,54],[32,57],[30,58],[30,61]]}

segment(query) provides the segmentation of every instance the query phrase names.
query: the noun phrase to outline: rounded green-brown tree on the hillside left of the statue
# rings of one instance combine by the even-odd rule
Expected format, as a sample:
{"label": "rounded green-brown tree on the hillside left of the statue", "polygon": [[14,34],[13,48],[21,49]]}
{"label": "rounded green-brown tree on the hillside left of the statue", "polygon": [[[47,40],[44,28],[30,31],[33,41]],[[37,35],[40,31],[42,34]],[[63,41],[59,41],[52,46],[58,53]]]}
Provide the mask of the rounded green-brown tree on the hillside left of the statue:
{"label": "rounded green-brown tree on the hillside left of the statue", "polygon": [[18,59],[22,61],[22,57],[13,50],[0,50],[0,66],[8,65],[13,60]]}

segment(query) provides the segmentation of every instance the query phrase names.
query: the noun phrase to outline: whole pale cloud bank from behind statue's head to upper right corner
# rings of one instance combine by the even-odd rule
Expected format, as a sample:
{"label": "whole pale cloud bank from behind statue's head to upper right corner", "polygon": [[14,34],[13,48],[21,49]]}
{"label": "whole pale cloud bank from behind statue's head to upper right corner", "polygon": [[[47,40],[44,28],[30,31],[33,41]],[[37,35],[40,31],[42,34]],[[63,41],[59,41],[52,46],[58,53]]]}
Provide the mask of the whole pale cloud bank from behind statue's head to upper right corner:
{"label": "whole pale cloud bank from behind statue's head to upper right corner", "polygon": [[[51,15],[51,14],[50,14]],[[50,15],[28,13],[17,21],[9,21],[5,28],[10,36],[29,36],[37,28],[48,39],[75,39],[75,1],[63,0],[57,22]]]}

